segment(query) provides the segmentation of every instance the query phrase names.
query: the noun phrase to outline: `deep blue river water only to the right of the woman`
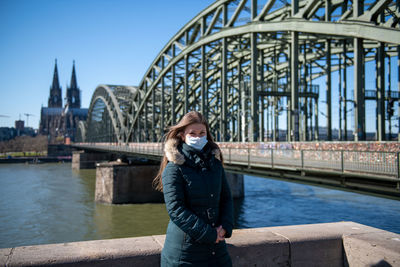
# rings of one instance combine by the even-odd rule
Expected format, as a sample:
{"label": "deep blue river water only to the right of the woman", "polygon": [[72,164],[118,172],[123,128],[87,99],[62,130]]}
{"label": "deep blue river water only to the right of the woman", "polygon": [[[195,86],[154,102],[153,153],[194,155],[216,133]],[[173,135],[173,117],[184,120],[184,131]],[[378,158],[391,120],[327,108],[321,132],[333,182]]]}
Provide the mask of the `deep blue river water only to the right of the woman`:
{"label": "deep blue river water only to the right of the woman", "polygon": [[268,178],[245,176],[245,197],[235,200],[235,227],[354,221],[400,233],[397,200]]}

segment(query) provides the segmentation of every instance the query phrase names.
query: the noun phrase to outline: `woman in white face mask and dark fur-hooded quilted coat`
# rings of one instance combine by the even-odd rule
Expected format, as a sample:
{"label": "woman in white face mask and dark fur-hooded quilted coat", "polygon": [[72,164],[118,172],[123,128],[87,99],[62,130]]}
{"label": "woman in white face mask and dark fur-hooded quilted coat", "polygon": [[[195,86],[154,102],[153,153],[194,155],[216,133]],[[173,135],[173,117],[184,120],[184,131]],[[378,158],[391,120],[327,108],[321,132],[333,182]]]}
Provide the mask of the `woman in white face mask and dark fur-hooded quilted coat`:
{"label": "woman in white face mask and dark fur-hooded quilted coat", "polygon": [[154,182],[170,217],[161,266],[232,266],[225,238],[233,204],[221,151],[199,112],[189,112],[166,135]]}

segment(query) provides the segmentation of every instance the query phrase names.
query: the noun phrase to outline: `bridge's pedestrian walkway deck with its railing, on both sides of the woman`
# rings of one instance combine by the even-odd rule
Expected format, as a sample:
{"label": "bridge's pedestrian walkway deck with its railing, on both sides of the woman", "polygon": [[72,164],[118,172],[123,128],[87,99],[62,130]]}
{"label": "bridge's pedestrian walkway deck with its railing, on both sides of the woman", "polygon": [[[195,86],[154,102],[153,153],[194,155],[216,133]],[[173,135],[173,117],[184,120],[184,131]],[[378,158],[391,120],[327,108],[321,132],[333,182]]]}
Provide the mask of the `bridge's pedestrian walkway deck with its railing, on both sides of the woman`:
{"label": "bridge's pedestrian walkway deck with its railing, on both sides of the woman", "polygon": [[[160,160],[162,143],[76,143],[85,151]],[[398,142],[219,143],[228,171],[400,197]]]}

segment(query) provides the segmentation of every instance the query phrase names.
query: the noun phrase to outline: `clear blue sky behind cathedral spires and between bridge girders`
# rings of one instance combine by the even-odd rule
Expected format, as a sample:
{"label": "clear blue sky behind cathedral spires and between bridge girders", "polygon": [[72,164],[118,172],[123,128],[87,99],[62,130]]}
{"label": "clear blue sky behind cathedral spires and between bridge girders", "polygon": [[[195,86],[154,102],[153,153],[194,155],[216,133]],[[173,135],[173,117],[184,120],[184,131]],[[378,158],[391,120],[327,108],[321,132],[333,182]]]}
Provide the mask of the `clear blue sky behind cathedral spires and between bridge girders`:
{"label": "clear blue sky behind cathedral spires and between bridge girders", "polygon": [[[164,45],[187,22],[214,0],[0,0],[0,127],[14,126],[29,117],[37,128],[41,106],[47,106],[57,58],[63,97],[70,83],[72,62],[76,62],[82,107],[88,107],[99,84],[138,85]],[[392,58],[392,90],[397,90],[397,58]],[[371,64],[370,64],[371,65]],[[367,73],[375,73],[374,66]],[[349,68],[349,88],[352,71]],[[367,76],[367,89],[375,82]],[[369,80],[371,81],[369,81]],[[332,104],[338,107],[337,73],[332,76]],[[325,78],[320,84],[320,110]],[[375,104],[367,103],[367,117],[375,116]],[[397,114],[397,113],[396,113]],[[333,128],[338,112],[332,111]],[[286,123],[282,118],[283,127]],[[320,126],[326,125],[320,114]],[[352,113],[349,112],[349,130]],[[374,131],[375,120],[367,120]],[[397,130],[397,128],[396,128]]]}

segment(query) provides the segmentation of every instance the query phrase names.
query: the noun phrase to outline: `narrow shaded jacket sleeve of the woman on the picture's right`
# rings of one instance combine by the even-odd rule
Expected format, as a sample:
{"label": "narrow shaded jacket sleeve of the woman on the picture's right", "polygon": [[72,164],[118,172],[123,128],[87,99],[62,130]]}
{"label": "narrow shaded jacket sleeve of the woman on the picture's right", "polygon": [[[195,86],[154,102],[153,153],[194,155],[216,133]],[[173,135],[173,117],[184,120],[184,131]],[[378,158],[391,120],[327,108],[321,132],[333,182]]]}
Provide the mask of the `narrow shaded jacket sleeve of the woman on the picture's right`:
{"label": "narrow shaded jacket sleeve of the woman on the picture's right", "polygon": [[232,236],[233,229],[233,201],[231,189],[229,188],[228,181],[226,180],[225,171],[222,169],[222,187],[220,198],[220,218],[222,228],[225,229],[225,237]]}

